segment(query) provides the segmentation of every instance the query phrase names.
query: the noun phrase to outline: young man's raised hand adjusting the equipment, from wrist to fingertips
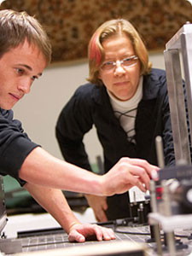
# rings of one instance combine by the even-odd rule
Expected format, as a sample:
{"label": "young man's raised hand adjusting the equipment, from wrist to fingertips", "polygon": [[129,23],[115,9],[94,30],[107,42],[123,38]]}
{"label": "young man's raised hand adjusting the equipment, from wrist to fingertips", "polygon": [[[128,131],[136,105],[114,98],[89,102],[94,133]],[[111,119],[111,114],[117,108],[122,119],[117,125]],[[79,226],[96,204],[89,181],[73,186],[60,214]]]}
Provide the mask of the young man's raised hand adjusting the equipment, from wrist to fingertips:
{"label": "young man's raised hand adjusting the equipment, from wrist to fingertips", "polygon": [[143,192],[149,189],[152,172],[157,172],[159,167],[150,165],[147,160],[121,158],[113,168],[102,176],[102,195],[125,193],[133,186]]}

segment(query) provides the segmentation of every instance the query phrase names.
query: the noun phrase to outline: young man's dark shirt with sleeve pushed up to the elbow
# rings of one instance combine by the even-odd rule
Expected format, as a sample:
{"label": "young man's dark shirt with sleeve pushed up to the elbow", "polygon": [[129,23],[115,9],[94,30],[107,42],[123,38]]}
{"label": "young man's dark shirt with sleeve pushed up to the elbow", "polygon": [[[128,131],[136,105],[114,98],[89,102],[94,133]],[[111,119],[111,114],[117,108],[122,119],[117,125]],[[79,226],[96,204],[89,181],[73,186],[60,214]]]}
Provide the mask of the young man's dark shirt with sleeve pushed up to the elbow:
{"label": "young man's dark shirt with sleeve pushed up to the elbow", "polygon": [[36,147],[38,145],[32,143],[20,121],[13,119],[13,111],[0,108],[0,174],[9,174],[20,185],[25,184],[19,177],[19,170],[26,156]]}

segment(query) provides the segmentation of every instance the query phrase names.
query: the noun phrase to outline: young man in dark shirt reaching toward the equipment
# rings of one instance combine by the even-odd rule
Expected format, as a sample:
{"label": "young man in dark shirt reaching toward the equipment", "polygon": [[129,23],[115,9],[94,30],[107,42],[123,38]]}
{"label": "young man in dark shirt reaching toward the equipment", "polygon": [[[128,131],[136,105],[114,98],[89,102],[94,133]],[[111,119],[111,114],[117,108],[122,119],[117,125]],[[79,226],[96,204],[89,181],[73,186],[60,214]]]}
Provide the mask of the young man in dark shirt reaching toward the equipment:
{"label": "young man in dark shirt reaching toward the equipment", "polygon": [[32,143],[11,108],[29,93],[49,64],[51,47],[43,28],[25,12],[0,11],[0,173],[15,177],[67,231],[69,241],[114,239],[113,230],[80,224],[61,189],[113,195],[137,185],[148,189],[152,170],[143,160],[122,159],[104,176],[58,160]]}

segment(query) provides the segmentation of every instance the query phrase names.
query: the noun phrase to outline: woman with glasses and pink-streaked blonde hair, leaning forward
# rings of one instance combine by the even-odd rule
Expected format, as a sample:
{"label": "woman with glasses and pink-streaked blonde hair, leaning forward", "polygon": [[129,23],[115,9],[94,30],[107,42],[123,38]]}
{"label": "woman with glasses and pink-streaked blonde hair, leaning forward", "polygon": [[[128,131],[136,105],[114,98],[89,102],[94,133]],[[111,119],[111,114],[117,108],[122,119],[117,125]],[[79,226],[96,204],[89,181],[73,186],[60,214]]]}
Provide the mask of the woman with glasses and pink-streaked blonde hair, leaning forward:
{"label": "woman with glasses and pink-streaked blonde hair, leaning forward", "polygon": [[[162,137],[166,166],[174,165],[166,73],[151,68],[143,40],[129,21],[109,20],[96,30],[89,67],[90,83],[76,90],[57,121],[64,158],[91,170],[83,137],[95,125],[105,172],[123,156],[157,165],[156,136]],[[130,216],[128,193],[86,198],[98,221]]]}

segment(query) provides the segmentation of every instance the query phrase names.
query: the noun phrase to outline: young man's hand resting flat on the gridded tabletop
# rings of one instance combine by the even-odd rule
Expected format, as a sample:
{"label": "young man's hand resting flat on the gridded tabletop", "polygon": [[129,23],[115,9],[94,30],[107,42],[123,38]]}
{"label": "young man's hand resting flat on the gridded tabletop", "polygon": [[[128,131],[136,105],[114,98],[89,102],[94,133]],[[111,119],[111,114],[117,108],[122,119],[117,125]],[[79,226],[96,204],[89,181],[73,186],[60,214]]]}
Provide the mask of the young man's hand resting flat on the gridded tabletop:
{"label": "young man's hand resting flat on the gridded tabletop", "polygon": [[115,239],[113,230],[96,224],[74,224],[68,234],[69,241],[84,242],[94,238],[98,241]]}

